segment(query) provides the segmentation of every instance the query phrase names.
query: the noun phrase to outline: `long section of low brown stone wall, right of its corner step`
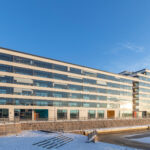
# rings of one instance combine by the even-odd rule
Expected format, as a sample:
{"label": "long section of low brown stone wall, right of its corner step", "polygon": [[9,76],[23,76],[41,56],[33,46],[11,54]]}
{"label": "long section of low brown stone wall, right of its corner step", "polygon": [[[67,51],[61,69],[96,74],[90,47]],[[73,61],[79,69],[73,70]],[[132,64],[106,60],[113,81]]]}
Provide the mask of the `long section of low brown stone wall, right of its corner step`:
{"label": "long section of low brown stone wall, right of its corner step", "polygon": [[22,130],[86,130],[95,128],[111,128],[123,126],[148,125],[150,119],[121,119],[121,120],[89,120],[89,121],[59,121],[59,122],[26,122],[21,123]]}

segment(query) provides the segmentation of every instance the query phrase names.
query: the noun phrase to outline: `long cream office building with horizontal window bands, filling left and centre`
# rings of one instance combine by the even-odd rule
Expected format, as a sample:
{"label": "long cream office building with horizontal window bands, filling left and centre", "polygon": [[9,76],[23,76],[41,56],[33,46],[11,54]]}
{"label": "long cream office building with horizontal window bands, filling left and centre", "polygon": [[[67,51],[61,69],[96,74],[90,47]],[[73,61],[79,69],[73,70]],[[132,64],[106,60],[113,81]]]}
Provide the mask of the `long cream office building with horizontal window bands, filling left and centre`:
{"label": "long cream office building with horizontal window bands, filling left and centre", "polygon": [[140,101],[135,99],[139,84],[147,82],[139,80],[132,73],[114,74],[0,48],[0,118],[132,117],[134,109],[143,111],[140,103],[133,103]]}

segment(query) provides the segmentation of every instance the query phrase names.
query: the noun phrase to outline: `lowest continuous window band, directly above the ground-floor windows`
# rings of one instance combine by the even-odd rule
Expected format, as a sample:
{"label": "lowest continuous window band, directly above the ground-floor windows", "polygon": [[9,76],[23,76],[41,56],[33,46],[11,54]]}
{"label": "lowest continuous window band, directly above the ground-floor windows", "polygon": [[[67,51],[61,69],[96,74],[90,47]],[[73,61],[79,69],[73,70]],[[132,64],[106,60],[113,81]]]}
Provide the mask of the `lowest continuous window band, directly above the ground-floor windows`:
{"label": "lowest continuous window band, directly above the ground-floor windows", "polygon": [[114,103],[92,103],[75,101],[56,100],[29,100],[29,99],[9,99],[0,98],[0,105],[23,105],[23,106],[55,106],[55,107],[91,107],[91,108],[119,108],[119,104]]}

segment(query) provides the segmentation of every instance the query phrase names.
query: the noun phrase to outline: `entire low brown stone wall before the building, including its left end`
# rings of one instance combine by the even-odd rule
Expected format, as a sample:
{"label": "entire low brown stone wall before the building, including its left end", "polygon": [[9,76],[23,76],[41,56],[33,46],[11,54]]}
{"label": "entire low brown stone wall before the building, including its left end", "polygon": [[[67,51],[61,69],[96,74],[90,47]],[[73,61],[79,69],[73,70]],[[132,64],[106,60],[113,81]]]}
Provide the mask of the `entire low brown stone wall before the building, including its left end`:
{"label": "entire low brown stone wall before the building, including its left end", "polygon": [[16,134],[22,130],[47,130],[47,131],[83,131],[96,128],[111,128],[125,126],[150,125],[149,119],[116,119],[116,120],[89,120],[89,121],[39,121],[19,122],[0,125],[0,135]]}

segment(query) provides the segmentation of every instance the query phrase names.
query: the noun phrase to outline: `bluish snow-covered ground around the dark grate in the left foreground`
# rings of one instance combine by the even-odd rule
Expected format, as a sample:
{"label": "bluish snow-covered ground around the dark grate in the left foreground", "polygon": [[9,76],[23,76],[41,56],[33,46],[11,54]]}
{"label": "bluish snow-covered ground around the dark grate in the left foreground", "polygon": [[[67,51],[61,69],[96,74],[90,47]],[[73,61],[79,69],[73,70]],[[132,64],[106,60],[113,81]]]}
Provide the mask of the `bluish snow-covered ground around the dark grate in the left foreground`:
{"label": "bluish snow-covered ground around the dark grate in the left foreground", "polygon": [[[58,133],[24,131],[17,136],[0,137],[0,150],[46,150],[46,148],[34,146],[32,144],[57,135]],[[72,133],[63,133],[63,135],[73,138],[73,141],[59,147],[58,150],[136,150],[134,148],[102,142],[87,143],[87,137],[83,135]]]}

